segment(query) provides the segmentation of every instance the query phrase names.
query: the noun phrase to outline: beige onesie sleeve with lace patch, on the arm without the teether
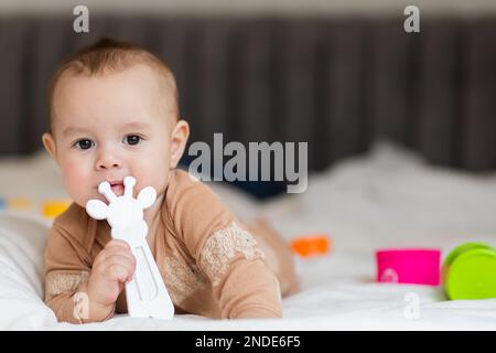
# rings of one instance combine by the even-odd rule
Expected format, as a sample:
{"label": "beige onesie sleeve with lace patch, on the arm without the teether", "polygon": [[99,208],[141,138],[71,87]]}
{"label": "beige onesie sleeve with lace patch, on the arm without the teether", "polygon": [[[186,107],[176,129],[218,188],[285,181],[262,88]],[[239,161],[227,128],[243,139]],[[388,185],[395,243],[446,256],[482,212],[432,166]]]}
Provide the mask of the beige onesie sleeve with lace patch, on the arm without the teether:
{"label": "beige onesie sleeve with lace patch, on the arm without the teether", "polygon": [[281,293],[254,236],[204,183],[176,171],[169,199],[175,233],[212,282],[222,318],[280,318]]}

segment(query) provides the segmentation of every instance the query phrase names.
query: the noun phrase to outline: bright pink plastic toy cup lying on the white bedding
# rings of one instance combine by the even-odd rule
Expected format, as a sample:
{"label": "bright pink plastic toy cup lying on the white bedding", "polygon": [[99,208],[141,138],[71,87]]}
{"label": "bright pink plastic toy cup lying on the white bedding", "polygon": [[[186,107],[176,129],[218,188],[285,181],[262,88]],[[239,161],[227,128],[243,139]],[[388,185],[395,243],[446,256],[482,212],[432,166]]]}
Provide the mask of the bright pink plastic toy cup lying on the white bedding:
{"label": "bright pink plastic toy cup lying on the white bedding", "polygon": [[439,249],[377,250],[377,281],[439,286],[440,257]]}

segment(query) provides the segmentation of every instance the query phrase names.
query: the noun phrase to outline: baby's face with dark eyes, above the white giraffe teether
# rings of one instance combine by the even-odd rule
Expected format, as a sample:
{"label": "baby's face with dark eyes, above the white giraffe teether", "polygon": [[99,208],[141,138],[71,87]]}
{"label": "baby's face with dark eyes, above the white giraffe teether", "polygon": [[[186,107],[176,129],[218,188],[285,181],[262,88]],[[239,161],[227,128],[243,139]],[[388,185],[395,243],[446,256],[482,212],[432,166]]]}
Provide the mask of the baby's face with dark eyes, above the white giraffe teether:
{"label": "baby's face with dark eyes, above the white giraffe teether", "polygon": [[[123,194],[122,180],[137,180],[136,194],[153,186],[165,190],[175,117],[163,104],[157,74],[145,65],[98,77],[65,75],[54,93],[52,153],[71,197],[80,206],[98,193],[103,181]],[[44,137],[45,139],[45,137]],[[45,146],[46,146],[45,141]]]}

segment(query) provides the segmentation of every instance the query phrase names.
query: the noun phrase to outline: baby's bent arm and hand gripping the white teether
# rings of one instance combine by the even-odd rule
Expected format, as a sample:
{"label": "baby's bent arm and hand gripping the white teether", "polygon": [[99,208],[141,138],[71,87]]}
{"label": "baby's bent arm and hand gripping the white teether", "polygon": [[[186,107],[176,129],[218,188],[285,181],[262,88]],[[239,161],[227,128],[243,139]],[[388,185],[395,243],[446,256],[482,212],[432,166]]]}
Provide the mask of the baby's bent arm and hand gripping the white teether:
{"label": "baby's bent arm and hand gripping the white teether", "polygon": [[84,246],[54,225],[45,252],[45,302],[58,321],[86,323],[111,318],[136,264],[122,243],[109,242],[90,264]]}

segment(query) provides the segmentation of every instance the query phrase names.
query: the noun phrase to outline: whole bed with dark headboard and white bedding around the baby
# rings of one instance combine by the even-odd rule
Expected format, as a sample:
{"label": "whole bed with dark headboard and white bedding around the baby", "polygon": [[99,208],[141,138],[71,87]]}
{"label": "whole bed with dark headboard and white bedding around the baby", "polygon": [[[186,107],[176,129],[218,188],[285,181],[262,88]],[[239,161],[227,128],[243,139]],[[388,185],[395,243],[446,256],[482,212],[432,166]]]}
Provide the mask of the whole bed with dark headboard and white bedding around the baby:
{"label": "whole bed with dark headboard and white bedding around the baby", "polygon": [[[496,245],[496,20],[422,15],[421,32],[409,34],[400,13],[96,14],[85,35],[60,15],[0,15],[0,197],[33,205],[0,214],[0,329],[494,330],[495,299],[448,301],[441,287],[375,282],[379,247],[438,247],[445,256],[467,240]],[[302,290],[283,300],[282,320],[118,315],[71,325],[44,306],[51,221],[40,206],[67,197],[40,152],[45,89],[57,62],[101,35],[169,62],[191,142],[223,132],[226,143],[309,143],[302,194],[280,193],[280,183],[238,185],[250,193],[211,184],[240,217],[268,218],[288,242],[332,237],[328,256],[298,258]]]}

